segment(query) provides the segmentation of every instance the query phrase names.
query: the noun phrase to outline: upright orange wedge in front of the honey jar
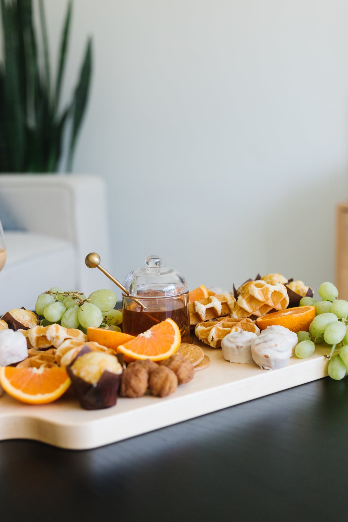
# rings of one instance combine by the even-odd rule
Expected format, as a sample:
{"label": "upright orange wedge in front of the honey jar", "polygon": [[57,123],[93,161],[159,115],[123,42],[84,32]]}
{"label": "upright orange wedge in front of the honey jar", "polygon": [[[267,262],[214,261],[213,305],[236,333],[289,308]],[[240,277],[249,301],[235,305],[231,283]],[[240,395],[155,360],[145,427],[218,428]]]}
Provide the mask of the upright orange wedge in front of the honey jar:
{"label": "upright orange wedge in front of the honey jar", "polygon": [[117,347],[118,353],[123,353],[126,362],[137,359],[162,361],[176,352],[181,343],[179,327],[170,318],[152,326],[135,339]]}

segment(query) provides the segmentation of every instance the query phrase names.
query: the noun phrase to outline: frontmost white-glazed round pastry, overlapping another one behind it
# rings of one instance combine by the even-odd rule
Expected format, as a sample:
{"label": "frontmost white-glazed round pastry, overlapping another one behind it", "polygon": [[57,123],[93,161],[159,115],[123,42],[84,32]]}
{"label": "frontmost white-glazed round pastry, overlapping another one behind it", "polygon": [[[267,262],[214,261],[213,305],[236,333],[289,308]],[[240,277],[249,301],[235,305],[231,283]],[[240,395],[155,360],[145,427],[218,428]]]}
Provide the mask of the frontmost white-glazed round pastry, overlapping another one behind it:
{"label": "frontmost white-glazed round pastry, overlapping another one behind it", "polygon": [[263,370],[278,370],[285,366],[291,357],[289,340],[275,332],[259,335],[251,344],[251,355]]}

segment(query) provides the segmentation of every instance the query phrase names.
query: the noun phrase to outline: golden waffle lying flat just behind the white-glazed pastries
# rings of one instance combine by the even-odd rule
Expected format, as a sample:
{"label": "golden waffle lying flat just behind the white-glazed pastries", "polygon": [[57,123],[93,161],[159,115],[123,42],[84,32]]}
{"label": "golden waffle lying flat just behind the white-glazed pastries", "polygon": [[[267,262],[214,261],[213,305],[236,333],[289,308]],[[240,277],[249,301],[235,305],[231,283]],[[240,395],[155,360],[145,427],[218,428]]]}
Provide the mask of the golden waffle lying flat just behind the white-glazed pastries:
{"label": "golden waffle lying flat just behind the white-glazed pastries", "polygon": [[248,317],[243,319],[223,317],[218,319],[218,321],[198,323],[195,328],[195,334],[198,339],[211,346],[211,348],[220,348],[221,341],[226,335],[239,330],[251,331],[256,335],[260,333],[255,321],[251,321]]}

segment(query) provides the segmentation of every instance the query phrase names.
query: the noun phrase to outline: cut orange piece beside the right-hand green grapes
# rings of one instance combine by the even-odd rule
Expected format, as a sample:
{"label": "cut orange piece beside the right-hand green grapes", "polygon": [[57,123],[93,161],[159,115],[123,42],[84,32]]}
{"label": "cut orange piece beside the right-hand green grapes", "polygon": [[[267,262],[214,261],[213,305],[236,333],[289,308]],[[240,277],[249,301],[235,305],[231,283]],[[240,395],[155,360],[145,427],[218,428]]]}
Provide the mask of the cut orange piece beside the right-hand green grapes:
{"label": "cut orange piece beside the right-hand green grapes", "polygon": [[262,315],[256,319],[260,330],[265,330],[267,326],[281,325],[291,331],[308,331],[309,325],[315,318],[314,306],[295,306],[280,312]]}

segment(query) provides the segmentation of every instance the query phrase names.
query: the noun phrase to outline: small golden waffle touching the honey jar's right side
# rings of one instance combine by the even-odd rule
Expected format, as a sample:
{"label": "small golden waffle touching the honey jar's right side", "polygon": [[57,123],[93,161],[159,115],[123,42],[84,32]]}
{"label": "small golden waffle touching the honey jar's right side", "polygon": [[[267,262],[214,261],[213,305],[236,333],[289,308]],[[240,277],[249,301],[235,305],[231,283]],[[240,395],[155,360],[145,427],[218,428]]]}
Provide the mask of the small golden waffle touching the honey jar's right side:
{"label": "small golden waffle touching the honey jar's right side", "polygon": [[210,295],[200,301],[190,303],[190,325],[196,325],[201,321],[211,321],[216,317],[230,315],[234,309],[236,300],[230,294]]}

